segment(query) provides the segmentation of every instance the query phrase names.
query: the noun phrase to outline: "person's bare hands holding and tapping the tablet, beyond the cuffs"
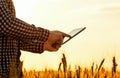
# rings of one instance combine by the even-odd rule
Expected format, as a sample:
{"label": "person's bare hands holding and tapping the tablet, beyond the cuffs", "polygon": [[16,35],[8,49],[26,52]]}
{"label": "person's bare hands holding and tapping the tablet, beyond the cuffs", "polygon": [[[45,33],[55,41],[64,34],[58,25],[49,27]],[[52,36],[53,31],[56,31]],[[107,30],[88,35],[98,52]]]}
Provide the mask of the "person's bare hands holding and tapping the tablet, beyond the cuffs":
{"label": "person's bare hands holding and tapping the tablet, beyond the cuffs", "polygon": [[50,31],[48,40],[44,43],[44,50],[57,51],[63,44],[64,37],[71,36],[61,31]]}

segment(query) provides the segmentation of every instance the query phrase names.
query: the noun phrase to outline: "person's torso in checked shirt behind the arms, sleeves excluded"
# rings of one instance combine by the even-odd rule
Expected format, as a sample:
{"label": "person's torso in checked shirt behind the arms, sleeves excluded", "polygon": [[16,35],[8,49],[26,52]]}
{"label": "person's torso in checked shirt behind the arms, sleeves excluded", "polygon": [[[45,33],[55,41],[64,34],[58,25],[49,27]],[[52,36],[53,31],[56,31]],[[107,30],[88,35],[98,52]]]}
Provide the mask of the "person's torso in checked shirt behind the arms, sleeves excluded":
{"label": "person's torso in checked shirt behind the arms, sleeves excluded", "polygon": [[[5,3],[8,10],[15,16],[15,8],[12,0],[0,0],[0,4],[2,4],[2,1],[5,1],[3,3]],[[11,64],[14,64],[17,68],[20,62],[19,57],[19,41],[0,33],[0,74],[10,74]]]}

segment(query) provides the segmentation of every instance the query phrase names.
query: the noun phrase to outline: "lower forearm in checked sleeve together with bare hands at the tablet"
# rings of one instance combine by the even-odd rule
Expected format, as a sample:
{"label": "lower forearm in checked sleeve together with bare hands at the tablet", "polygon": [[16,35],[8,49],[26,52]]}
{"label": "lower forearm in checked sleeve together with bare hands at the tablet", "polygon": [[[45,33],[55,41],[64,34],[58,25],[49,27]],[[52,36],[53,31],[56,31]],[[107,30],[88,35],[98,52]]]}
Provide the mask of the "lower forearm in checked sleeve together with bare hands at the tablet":
{"label": "lower forearm in checked sleeve together with bare hands at the tablet", "polygon": [[35,40],[34,43],[28,44],[20,42],[20,49],[34,53],[42,53],[43,51],[57,51],[63,44],[64,37],[71,37],[70,35],[61,31],[50,31],[49,37],[46,42]]}

